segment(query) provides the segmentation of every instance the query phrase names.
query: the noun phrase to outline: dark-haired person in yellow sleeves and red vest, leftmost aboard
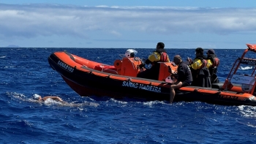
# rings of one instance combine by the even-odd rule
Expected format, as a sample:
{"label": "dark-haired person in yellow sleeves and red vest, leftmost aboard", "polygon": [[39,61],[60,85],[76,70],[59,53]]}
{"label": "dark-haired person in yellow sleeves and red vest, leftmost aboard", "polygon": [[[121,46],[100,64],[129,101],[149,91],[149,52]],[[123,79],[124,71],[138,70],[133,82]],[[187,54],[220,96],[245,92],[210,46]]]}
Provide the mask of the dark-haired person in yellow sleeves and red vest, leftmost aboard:
{"label": "dark-haired person in yellow sleeves and red vest, leftmost aboard", "polygon": [[170,62],[169,56],[165,51],[165,44],[163,42],[158,42],[156,50],[148,56],[145,64],[151,64],[150,69],[146,69],[143,72],[139,72],[137,77],[148,78],[151,80],[158,80],[160,64],[158,62]]}

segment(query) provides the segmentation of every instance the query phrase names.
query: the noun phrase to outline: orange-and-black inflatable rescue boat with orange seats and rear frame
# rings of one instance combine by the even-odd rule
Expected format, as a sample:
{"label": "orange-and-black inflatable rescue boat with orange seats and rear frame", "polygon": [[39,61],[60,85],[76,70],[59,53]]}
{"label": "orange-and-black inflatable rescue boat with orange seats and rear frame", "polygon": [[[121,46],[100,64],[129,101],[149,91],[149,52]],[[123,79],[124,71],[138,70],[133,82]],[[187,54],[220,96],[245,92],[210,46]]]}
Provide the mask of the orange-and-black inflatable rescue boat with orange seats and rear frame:
{"label": "orange-and-black inflatable rescue boat with orange seats and rear frame", "polygon": [[[211,88],[186,86],[176,89],[173,102],[207,102],[216,105],[256,105],[255,58],[245,58],[249,51],[256,52],[256,45],[246,44],[241,58],[237,58],[224,83],[212,83]],[[89,61],[67,51],[55,52],[48,57],[53,70],[59,73],[70,88],[80,96],[124,96],[143,100],[170,100],[170,76],[178,66],[171,62],[160,63],[159,80],[136,77],[140,72],[140,58],[116,59],[113,65]],[[249,65],[252,72],[240,72],[242,64]]]}

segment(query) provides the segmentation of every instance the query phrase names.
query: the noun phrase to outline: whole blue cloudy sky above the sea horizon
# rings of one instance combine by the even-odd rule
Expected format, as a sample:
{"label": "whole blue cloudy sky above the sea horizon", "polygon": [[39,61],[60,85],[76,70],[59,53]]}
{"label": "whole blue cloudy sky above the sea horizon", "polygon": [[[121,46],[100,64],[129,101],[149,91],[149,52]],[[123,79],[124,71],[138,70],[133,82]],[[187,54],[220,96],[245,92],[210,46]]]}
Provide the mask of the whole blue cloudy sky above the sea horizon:
{"label": "whole blue cloudy sky above the sea horizon", "polygon": [[255,0],[0,0],[0,48],[244,49]]}

